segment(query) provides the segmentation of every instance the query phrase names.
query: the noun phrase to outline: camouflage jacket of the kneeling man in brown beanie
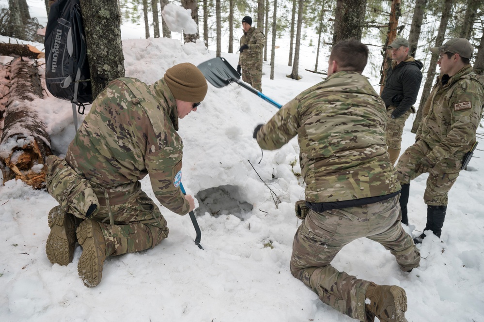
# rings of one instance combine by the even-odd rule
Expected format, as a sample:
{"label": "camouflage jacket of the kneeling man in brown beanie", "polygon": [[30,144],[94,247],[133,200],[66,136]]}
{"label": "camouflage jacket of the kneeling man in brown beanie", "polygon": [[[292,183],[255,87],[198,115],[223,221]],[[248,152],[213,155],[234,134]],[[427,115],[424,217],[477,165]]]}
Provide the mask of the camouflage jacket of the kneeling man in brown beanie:
{"label": "camouflage jacket of the kneeling man in brown beanie", "polygon": [[179,186],[183,142],[177,130],[176,102],[163,78],[151,86],[118,78],[94,100],[65,160],[103,187],[111,205],[125,202],[149,174],[160,203],[185,215],[189,204]]}

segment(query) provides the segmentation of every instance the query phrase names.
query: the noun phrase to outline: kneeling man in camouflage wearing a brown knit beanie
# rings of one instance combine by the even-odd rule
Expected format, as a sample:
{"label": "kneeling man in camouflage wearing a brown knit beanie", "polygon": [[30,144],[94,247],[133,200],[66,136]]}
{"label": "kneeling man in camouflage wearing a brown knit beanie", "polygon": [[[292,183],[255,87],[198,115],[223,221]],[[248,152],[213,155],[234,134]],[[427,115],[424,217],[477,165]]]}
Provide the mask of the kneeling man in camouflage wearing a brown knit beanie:
{"label": "kneeling man in camouflage wearing a brown knit beanie", "polygon": [[194,209],[180,190],[183,142],[178,119],[196,111],[207,83],[193,64],[169,68],[146,85],[118,78],[94,100],[65,160],[47,159],[47,190],[59,201],[48,216],[49,261],[67,265],[82,246],[79,277],[101,281],[107,256],[155,247],[168,236],[158,207],[141,190],[147,174],[158,201],[185,215]]}

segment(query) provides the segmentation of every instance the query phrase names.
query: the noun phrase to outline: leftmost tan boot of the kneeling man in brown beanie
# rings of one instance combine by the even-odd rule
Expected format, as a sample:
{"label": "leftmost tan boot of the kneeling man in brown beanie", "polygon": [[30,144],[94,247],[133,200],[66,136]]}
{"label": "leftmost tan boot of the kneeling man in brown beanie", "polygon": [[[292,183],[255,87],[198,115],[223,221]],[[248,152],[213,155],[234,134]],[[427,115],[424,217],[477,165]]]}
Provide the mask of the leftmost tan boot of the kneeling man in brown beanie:
{"label": "leftmost tan boot of the kneeling man in brown beanie", "polygon": [[76,217],[56,206],[50,210],[47,220],[50,227],[46,243],[47,258],[52,264],[66,266],[74,257]]}

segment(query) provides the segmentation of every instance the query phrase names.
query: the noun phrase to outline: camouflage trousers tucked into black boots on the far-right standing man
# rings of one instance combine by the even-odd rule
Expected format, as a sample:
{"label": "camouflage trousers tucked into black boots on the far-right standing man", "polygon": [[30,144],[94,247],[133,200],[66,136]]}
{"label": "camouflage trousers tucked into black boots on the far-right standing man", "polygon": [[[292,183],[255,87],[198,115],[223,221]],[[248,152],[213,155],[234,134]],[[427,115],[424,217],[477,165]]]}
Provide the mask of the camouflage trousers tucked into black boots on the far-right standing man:
{"label": "camouflage trousers tucked into black boots on the far-right standing man", "polygon": [[[415,166],[428,153],[430,153],[430,148],[423,140],[415,142],[414,145],[406,149],[395,167],[401,184],[409,184],[410,181],[422,174],[422,172],[415,171]],[[463,157],[464,153],[454,153],[452,156],[437,162],[430,171],[423,195],[423,200],[427,205],[447,205],[447,194],[459,176]]]}

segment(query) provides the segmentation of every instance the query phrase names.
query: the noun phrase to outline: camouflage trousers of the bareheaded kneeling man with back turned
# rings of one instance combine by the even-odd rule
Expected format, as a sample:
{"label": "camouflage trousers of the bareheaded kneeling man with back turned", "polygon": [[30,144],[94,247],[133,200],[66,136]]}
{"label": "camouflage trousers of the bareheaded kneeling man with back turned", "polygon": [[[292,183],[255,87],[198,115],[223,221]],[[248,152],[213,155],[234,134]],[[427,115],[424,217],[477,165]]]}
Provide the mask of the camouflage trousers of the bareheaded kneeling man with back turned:
{"label": "camouflage trousers of the bareheaded kneeling man with back turned", "polygon": [[398,198],[324,213],[310,210],[294,237],[290,263],[293,276],[312,288],[323,303],[366,321],[365,297],[370,281],[339,272],[330,263],[344,245],[366,237],[390,250],[402,270],[417,267],[420,253],[402,229]]}

